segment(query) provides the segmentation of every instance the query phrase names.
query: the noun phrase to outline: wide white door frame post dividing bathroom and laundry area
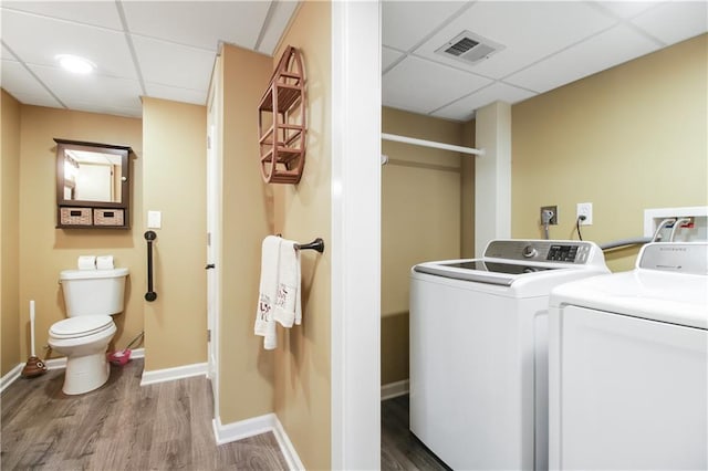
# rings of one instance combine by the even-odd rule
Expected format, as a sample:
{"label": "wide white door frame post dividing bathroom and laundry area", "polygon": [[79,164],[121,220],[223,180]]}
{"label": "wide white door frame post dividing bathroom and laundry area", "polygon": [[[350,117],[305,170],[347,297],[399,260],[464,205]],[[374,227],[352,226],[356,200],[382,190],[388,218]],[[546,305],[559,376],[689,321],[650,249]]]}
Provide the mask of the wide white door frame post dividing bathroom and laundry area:
{"label": "wide white door frame post dividing bathroom and laundry area", "polygon": [[332,4],[332,469],[381,467],[381,10]]}

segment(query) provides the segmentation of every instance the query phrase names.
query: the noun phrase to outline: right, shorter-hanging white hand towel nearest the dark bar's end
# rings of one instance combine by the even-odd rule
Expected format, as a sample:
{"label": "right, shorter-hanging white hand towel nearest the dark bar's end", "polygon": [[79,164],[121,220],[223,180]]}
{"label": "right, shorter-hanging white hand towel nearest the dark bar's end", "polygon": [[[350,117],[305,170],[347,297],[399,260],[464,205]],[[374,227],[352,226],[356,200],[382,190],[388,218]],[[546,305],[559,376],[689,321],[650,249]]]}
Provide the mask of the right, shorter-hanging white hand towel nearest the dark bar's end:
{"label": "right, shorter-hanging white hand towel nearest the dark bar's end", "polygon": [[280,244],[278,270],[278,295],[273,316],[283,327],[300,324],[302,307],[300,301],[300,251],[295,242],[283,240]]}

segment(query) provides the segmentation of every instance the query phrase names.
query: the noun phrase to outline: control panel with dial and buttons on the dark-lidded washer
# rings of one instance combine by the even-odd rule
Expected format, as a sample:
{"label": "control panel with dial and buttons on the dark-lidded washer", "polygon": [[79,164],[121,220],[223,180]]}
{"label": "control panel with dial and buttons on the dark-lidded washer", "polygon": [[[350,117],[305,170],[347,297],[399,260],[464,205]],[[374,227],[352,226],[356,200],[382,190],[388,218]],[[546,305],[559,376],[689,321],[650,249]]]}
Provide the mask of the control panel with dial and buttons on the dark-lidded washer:
{"label": "control panel with dial and buttons on the dark-lidded washer", "polygon": [[589,264],[600,248],[587,241],[558,240],[492,240],[485,258],[519,260],[539,263]]}

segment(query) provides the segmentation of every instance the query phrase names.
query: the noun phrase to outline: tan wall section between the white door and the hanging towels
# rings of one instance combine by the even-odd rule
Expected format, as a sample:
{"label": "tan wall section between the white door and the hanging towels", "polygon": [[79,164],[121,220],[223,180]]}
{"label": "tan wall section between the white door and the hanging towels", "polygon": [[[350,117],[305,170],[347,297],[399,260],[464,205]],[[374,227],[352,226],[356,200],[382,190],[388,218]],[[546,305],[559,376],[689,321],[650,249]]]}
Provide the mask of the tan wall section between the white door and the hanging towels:
{"label": "tan wall section between the white door and the hanging towels", "polygon": [[272,190],[260,175],[257,111],[273,66],[271,57],[231,45],[223,46],[220,62],[219,411],[221,421],[230,423],[273,411],[274,354],[263,350],[262,337],[253,335],[261,243],[273,231]]}

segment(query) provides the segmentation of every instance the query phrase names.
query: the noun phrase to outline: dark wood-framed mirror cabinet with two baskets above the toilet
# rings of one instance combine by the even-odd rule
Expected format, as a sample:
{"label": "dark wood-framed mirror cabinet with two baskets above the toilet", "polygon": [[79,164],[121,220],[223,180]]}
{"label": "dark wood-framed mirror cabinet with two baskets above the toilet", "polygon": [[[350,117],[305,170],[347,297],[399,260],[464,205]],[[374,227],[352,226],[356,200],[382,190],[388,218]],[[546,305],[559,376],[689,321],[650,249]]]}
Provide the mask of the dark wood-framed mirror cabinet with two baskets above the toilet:
{"label": "dark wood-framed mirror cabinet with two baskets above the toilet", "polygon": [[128,229],[131,147],[58,139],[56,228]]}

